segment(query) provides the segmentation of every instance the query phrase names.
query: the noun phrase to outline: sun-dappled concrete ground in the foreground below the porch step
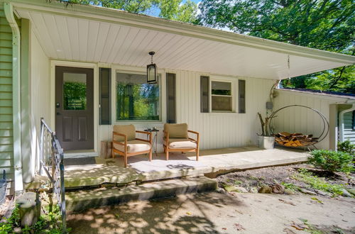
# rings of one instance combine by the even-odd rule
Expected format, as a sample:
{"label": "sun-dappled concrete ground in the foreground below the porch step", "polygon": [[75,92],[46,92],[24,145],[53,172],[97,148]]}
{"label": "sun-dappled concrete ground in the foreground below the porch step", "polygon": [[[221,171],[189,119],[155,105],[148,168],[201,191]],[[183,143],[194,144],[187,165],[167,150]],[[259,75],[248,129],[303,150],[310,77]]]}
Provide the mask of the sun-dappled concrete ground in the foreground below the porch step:
{"label": "sun-dappled concrete ground in the foreground below the porch step", "polygon": [[[285,194],[181,195],[68,216],[72,233],[355,233],[355,199]],[[320,203],[321,201],[321,203]],[[308,228],[308,230],[307,230]]]}

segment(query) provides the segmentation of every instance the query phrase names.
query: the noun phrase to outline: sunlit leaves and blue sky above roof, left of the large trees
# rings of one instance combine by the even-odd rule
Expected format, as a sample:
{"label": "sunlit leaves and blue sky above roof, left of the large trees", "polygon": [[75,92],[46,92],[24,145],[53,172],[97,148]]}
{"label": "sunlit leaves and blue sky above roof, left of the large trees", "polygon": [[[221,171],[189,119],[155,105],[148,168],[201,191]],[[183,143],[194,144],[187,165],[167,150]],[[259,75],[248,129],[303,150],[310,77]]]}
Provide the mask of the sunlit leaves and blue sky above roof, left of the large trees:
{"label": "sunlit leaves and blue sky above roof, left of the large trees", "polygon": [[62,0],[68,4],[85,4],[120,9],[131,13],[153,15],[154,9],[160,11],[159,16],[175,21],[192,23],[196,20],[197,5],[187,0]]}

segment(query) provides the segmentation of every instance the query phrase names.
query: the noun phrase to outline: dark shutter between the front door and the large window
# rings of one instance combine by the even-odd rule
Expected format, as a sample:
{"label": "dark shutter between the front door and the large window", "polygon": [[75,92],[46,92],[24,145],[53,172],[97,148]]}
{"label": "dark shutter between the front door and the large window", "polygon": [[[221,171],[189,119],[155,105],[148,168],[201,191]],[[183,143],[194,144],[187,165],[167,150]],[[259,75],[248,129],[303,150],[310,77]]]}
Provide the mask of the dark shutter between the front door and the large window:
{"label": "dark shutter between the front door and the large window", "polygon": [[111,124],[111,68],[99,68],[99,124]]}

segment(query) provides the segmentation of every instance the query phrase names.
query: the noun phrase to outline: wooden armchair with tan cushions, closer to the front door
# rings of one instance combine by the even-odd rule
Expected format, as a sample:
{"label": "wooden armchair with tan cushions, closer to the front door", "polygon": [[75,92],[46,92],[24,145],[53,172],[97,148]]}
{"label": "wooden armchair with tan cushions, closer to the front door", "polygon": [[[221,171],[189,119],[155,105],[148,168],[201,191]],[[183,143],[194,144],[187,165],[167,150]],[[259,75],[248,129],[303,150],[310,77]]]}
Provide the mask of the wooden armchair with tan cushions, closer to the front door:
{"label": "wooden armchair with tan cushions, closer to the front door", "polygon": [[[136,138],[136,133],[143,133],[148,135],[149,140]],[[133,125],[114,126],[112,133],[112,151],[111,155],[114,157],[115,153],[124,156],[124,167],[127,167],[127,158],[133,155],[149,154],[149,161],[152,160],[152,133],[136,130]]]}

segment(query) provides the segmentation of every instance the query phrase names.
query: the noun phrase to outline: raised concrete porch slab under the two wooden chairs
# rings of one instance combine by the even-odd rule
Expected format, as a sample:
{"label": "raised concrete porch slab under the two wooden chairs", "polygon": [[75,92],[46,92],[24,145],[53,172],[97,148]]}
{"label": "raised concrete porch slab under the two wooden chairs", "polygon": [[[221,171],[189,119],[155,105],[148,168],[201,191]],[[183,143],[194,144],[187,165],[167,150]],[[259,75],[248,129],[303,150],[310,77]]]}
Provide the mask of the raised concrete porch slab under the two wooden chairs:
{"label": "raised concrete porch slab under the two wooden chairs", "polygon": [[255,146],[201,150],[200,160],[193,153],[171,153],[169,161],[163,153],[129,157],[129,167],[124,168],[123,157],[104,160],[97,157],[97,165],[66,167],[65,187],[92,186],[103,183],[128,184],[135,181],[152,181],[175,177],[215,175],[241,169],[285,165],[305,162],[307,153],[300,150],[275,148],[261,150]]}

